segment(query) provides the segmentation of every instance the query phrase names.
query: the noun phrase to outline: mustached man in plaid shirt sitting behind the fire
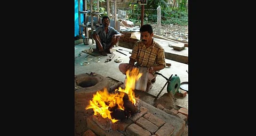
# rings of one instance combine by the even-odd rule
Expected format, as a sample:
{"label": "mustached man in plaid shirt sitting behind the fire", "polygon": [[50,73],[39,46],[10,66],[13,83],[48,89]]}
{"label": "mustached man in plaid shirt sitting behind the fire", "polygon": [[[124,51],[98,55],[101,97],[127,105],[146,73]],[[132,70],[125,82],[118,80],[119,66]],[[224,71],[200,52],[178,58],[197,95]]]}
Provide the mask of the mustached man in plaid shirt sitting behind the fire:
{"label": "mustached man in plaid shirt sitting behind the fire", "polygon": [[[166,65],[164,49],[154,41],[153,35],[153,28],[150,24],[142,25],[140,28],[141,40],[134,44],[129,63],[119,64],[119,70],[123,74],[133,67],[146,67],[148,69],[146,91],[149,91],[152,83],[156,81],[155,72],[164,69]],[[135,62],[137,63],[135,64]]]}

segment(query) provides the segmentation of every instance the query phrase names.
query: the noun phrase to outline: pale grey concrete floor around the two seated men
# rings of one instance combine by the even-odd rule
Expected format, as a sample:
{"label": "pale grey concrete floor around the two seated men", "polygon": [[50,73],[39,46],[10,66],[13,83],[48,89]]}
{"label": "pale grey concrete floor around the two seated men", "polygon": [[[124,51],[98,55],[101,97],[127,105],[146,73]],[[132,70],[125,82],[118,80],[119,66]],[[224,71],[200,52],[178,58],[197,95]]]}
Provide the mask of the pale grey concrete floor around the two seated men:
{"label": "pale grey concrete floor around the two seated men", "polygon": [[[159,39],[157,39],[157,40],[159,41]],[[161,42],[165,42],[165,41],[161,41]],[[166,45],[166,43],[165,43],[165,45]],[[129,57],[131,54],[129,54],[129,52],[119,50],[127,55],[127,56],[125,56],[121,53],[116,52],[115,50],[124,49],[124,50],[131,51],[131,49],[124,48],[121,46],[114,47],[113,53],[115,54],[115,57],[113,58],[112,61],[105,63],[106,59],[109,57],[110,54],[108,54],[108,56],[100,56],[100,58],[92,56],[92,55],[87,56],[87,54],[83,53],[82,51],[85,49],[89,49],[90,47],[95,48],[95,43],[92,44],[91,40],[90,40],[89,45],[84,45],[83,43],[75,45],[75,57],[79,56],[79,53],[82,53],[81,56],[79,56],[75,59],[75,75],[82,74],[82,73],[95,72],[95,73],[101,74],[103,77],[110,77],[110,78],[116,79],[118,81],[124,82],[125,75],[119,71],[119,69],[118,69],[119,63],[114,62],[114,60],[116,58],[121,58],[124,63],[128,63]],[[173,50],[169,46],[163,46],[163,47],[164,47],[164,49],[166,48],[165,50],[167,50],[167,52],[172,52],[173,54],[178,54],[178,53],[182,54],[181,51]],[[185,50],[185,53],[183,53],[183,54],[185,54],[185,56],[186,55],[188,56],[188,49]],[[91,60],[91,61],[85,60],[85,58],[89,58],[89,57],[92,57],[93,60]],[[99,60],[100,62],[97,63],[97,62],[94,62],[94,60]],[[83,63],[83,62],[89,62],[89,64],[81,66],[80,63]],[[180,63],[177,61],[172,61],[167,58],[166,58],[166,63],[171,63],[172,64],[171,67],[165,67],[165,69],[161,70],[159,73],[164,75],[164,77],[166,77],[166,78],[169,78],[172,74],[173,75],[177,74],[178,77],[180,78],[181,82],[188,82],[188,73],[187,73],[188,64]],[[149,96],[156,97],[158,95],[158,93],[161,91],[161,89],[164,87],[165,83],[166,83],[166,79],[163,78],[161,75],[158,75],[156,77],[156,82],[153,83],[153,87],[148,92],[145,92],[145,93],[147,93]],[[163,89],[161,94],[158,96],[158,98],[160,98],[163,94],[165,94],[167,92],[166,87],[167,86],[165,86],[165,88]],[[175,96],[175,99],[176,99],[177,106],[188,109],[188,94],[186,95],[186,97],[183,97],[183,98]]]}

